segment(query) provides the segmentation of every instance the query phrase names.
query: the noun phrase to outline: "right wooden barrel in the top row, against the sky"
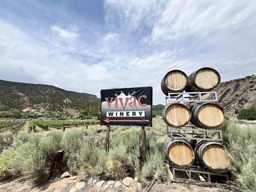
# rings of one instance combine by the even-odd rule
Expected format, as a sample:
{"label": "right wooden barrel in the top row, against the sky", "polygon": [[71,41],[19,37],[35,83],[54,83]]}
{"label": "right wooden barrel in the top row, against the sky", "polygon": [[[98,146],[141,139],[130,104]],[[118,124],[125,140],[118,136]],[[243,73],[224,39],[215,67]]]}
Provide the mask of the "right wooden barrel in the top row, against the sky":
{"label": "right wooden barrel in the top row, against the sky", "polygon": [[188,76],[186,92],[210,91],[220,82],[220,75],[215,69],[204,67]]}

